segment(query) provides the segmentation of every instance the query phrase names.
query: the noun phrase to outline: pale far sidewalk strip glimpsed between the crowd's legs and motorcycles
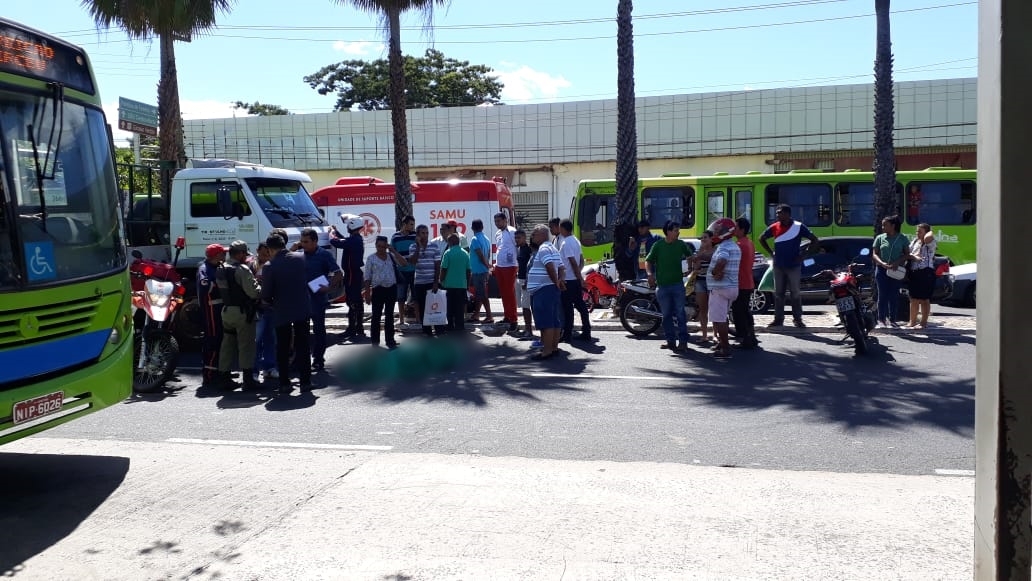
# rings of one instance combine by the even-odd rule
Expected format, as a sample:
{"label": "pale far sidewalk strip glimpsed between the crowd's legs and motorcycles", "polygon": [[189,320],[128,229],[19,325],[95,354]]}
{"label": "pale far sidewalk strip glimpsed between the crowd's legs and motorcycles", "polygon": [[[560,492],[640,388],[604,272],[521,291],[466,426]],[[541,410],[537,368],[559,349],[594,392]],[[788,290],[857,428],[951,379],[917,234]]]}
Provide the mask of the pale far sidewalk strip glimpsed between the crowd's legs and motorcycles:
{"label": "pale far sidewalk strip glimpsed between the crowd's legs and motorcycles", "polygon": [[[812,310],[813,305],[810,306]],[[975,318],[972,312],[970,317],[967,316],[950,316],[950,315],[936,315],[935,308],[933,305],[932,317],[929,321],[929,326],[927,329],[921,330],[910,330],[910,329],[894,329],[889,331],[875,330],[873,333],[911,333],[911,334],[926,334],[926,335],[941,335],[941,334],[975,334]],[[338,329],[348,326],[347,320],[348,309],[344,304],[337,304],[330,308],[326,312],[326,326],[331,329]],[[492,298],[491,299],[491,313],[494,314],[495,320],[501,320],[499,314],[502,313],[502,299]],[[366,308],[366,321],[368,320],[368,309]],[[523,315],[520,314],[520,324],[522,324]],[[774,320],[774,315],[756,315],[756,333],[779,333],[779,334],[800,334],[800,333],[841,333],[842,328],[837,327],[838,316],[832,312],[821,312],[812,313],[804,317],[804,322],[806,323],[805,329],[798,329],[792,324],[785,325],[778,328],[767,328],[768,323]],[[467,325],[469,328],[474,328],[472,325]],[[698,330],[698,324],[689,324],[689,330]],[[596,309],[591,313],[591,330],[592,332],[598,331],[618,331],[626,332],[623,326],[620,324],[619,317],[613,314],[611,309]]]}

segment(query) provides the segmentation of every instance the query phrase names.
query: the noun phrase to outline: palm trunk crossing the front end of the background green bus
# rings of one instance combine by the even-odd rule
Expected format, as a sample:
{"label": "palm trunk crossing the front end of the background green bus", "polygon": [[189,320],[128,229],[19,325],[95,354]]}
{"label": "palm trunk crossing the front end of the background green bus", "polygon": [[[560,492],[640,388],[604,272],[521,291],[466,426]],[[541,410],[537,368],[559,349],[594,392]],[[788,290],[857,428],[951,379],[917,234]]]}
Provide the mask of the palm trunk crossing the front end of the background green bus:
{"label": "palm trunk crossing the front end of the background green bus", "polygon": [[626,261],[622,259],[625,258],[626,241],[634,235],[634,224],[638,217],[638,133],[632,10],[632,0],[619,0],[616,8],[616,223],[613,230],[613,256],[616,258],[617,269],[626,271],[624,273],[630,273],[632,267],[624,264]]}

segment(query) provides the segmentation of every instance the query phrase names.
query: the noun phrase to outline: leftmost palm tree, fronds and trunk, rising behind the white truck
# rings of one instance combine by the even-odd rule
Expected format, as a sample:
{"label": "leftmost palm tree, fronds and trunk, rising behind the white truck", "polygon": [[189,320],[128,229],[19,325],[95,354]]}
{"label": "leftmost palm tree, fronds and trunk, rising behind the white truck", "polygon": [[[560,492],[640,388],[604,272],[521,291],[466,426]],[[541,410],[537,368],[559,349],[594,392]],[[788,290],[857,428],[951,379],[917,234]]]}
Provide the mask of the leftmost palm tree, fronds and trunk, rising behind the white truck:
{"label": "leftmost palm tree, fronds and trunk, rising behind the white truck", "polygon": [[180,82],[175,70],[176,39],[190,38],[216,24],[216,17],[228,12],[234,0],[80,0],[99,28],[118,26],[129,38],[153,38],[161,42],[161,77],[158,80],[159,144],[162,160],[162,189],[171,168],[186,165],[183,117],[180,111]]}

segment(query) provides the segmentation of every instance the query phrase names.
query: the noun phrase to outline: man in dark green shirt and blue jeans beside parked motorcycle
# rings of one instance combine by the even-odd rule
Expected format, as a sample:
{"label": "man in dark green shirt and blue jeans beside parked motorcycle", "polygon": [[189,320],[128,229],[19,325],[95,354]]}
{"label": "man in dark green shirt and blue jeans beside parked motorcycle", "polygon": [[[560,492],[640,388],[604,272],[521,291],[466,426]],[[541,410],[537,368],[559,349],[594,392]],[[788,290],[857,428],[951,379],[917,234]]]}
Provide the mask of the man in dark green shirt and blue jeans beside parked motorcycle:
{"label": "man in dark green shirt and blue jeans beside parked motorcycle", "polygon": [[691,247],[678,239],[677,235],[680,232],[680,224],[667,221],[663,225],[663,239],[653,244],[645,257],[648,284],[655,288],[655,298],[663,313],[663,334],[667,337],[667,343],[662,347],[676,353],[682,353],[688,348],[688,321],[684,315],[684,271],[681,261],[692,254]]}

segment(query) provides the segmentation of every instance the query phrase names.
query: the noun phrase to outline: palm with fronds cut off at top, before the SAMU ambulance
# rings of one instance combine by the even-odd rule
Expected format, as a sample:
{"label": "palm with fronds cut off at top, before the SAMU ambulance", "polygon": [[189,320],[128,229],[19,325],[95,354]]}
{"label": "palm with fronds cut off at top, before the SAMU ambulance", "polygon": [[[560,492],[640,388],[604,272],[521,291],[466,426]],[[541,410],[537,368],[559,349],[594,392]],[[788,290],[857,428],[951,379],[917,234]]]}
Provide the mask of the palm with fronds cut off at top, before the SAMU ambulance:
{"label": "palm with fronds cut off at top, before the SAMU ambulance", "polygon": [[380,14],[386,23],[387,62],[390,73],[390,121],[394,134],[394,221],[412,214],[412,184],[409,180],[409,126],[405,111],[405,61],[401,57],[401,12],[417,10],[424,18],[425,30],[433,23],[434,6],[447,6],[450,0],[335,0],[359,10]]}

